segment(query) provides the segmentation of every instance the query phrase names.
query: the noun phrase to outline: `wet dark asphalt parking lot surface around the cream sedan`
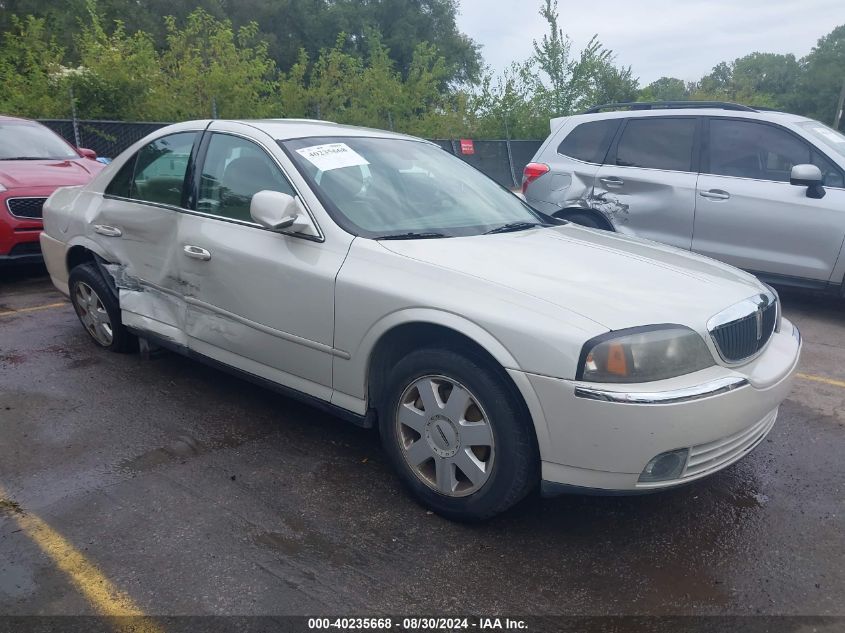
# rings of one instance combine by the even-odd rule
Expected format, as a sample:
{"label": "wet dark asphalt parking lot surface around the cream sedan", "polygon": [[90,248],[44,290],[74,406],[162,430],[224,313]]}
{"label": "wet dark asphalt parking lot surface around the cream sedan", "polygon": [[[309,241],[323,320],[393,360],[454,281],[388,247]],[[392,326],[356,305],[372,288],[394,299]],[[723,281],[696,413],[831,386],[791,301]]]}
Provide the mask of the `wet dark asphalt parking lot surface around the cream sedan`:
{"label": "wet dark asphalt parking lot surface around the cream sedan", "polygon": [[2,271],[0,614],[845,615],[845,303],[783,299],[801,375],[748,457],[462,525],[374,432],[100,351],[43,270]]}

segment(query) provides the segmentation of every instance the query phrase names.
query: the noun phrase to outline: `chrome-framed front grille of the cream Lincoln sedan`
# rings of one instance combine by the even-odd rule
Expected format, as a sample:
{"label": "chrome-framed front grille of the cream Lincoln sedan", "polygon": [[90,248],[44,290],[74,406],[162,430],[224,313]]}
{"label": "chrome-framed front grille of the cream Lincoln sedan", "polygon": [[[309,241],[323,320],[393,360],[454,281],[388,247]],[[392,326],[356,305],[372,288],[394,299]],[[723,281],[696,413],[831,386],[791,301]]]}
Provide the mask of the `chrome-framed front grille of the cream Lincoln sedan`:
{"label": "chrome-framed front grille of the cream Lincoln sedan", "polygon": [[778,309],[777,297],[766,292],[710,319],[707,329],[722,360],[738,363],[760,352],[775,331]]}

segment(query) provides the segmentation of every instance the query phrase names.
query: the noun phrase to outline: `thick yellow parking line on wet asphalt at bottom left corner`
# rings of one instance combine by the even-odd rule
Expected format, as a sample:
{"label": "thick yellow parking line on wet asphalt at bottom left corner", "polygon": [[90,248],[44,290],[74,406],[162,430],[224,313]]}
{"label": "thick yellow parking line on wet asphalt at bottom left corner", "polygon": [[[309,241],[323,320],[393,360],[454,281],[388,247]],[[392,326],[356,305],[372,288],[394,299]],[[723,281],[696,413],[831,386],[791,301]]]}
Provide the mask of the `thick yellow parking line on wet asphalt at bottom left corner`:
{"label": "thick yellow parking line on wet asphalt at bottom left corner", "polygon": [[98,614],[111,618],[133,617],[131,621],[115,620],[117,630],[163,633],[162,629],[147,617],[135,620],[134,618],[144,616],[144,612],[132,599],[115,587],[94,563],[46,522],[29,511],[23,511],[16,503],[8,501],[2,487],[0,500],[5,501],[0,507],[11,513],[20,530],[67,575]]}

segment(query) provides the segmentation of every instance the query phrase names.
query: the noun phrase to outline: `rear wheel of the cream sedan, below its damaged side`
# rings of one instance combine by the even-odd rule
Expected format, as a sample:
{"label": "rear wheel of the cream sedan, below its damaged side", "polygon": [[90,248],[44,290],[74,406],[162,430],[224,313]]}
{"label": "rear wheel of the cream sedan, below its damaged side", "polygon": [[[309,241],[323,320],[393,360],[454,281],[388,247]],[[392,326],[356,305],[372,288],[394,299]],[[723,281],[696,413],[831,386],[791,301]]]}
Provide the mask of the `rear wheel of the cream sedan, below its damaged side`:
{"label": "rear wheel of the cream sedan, below its damaged side", "polygon": [[135,349],[137,339],[123,326],[117,298],[95,264],[76,266],[68,288],[76,316],[97,345],[113,352]]}

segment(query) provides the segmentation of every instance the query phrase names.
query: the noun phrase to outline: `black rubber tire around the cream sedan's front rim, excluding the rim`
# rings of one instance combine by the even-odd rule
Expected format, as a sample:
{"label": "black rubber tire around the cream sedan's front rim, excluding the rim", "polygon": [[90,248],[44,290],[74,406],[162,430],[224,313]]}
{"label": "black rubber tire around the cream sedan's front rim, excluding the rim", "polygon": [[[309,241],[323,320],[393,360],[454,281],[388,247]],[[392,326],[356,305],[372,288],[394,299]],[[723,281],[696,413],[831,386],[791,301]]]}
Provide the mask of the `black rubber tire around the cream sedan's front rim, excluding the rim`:
{"label": "black rubber tire around the cream sedan's front rim, excluding the rim", "polygon": [[[421,349],[399,361],[382,390],[379,432],[399,476],[422,504],[458,521],[480,521],[504,512],[539,483],[539,455],[528,411],[502,372],[472,355],[443,349]],[[426,484],[403,456],[397,424],[399,400],[418,379],[444,376],[468,389],[486,413],[492,430],[495,459],[488,478],[468,496],[447,496]],[[420,437],[417,441],[424,441]],[[462,447],[463,448],[463,447]],[[434,458],[436,459],[436,458]]]}

